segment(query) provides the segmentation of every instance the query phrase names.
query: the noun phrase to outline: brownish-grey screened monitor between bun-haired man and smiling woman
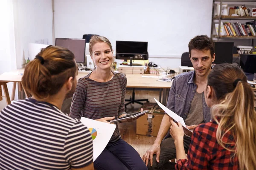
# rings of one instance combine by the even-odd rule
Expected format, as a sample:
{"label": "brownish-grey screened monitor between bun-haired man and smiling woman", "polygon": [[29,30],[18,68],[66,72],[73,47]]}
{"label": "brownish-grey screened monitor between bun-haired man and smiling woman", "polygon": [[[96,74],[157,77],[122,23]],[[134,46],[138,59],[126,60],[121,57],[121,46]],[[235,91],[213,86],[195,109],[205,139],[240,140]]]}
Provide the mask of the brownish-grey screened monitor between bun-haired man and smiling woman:
{"label": "brownish-grey screened monitor between bun-haired man and smiling woman", "polygon": [[85,61],[85,39],[56,38],[55,45],[69,49],[75,55],[76,62]]}

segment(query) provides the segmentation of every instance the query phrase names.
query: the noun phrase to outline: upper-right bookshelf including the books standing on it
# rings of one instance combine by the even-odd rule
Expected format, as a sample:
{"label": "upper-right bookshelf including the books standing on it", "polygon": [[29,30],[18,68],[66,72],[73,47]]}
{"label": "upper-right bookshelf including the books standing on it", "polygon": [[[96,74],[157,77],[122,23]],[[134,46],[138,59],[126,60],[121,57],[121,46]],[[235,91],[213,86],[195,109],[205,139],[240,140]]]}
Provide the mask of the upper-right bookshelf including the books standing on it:
{"label": "upper-right bookshelf including the books standing on it", "polygon": [[[211,28],[211,37],[212,37],[212,39],[214,39],[215,41],[218,41],[220,39],[250,39],[250,40],[252,40],[252,45],[254,45],[254,40],[256,39],[256,34],[254,34],[254,36],[253,36],[253,33],[251,32],[252,35],[249,35],[248,32],[246,31],[246,28],[243,29],[245,24],[241,24],[241,22],[246,23],[246,22],[249,22],[249,21],[256,21],[256,17],[252,17],[252,16],[223,16],[223,15],[216,16],[214,14],[215,13],[214,9],[215,9],[216,4],[219,4],[219,14],[221,14],[223,3],[232,3],[232,4],[233,3],[235,3],[235,4],[236,3],[239,3],[239,4],[244,3],[246,5],[246,3],[248,3],[248,2],[250,3],[250,5],[251,5],[251,3],[256,4],[256,0],[213,0],[213,4],[212,4],[212,28]],[[237,6],[241,6],[239,4]],[[254,7],[255,7],[255,4],[254,4]],[[230,4],[230,6],[233,6],[233,5]],[[235,31],[236,34],[233,34],[233,31],[232,31],[231,27],[230,27],[230,29],[227,28],[227,30],[225,30],[226,28],[222,29],[221,26],[223,26],[223,23],[224,23],[224,22],[222,23],[223,20],[226,20],[226,22],[227,22],[227,20],[229,20],[230,22],[234,22],[234,23],[230,23],[230,24],[231,24],[231,27],[234,28],[233,31]],[[239,22],[240,26],[241,26],[240,28],[238,28],[239,23],[238,23],[237,20],[241,21],[241,22]],[[238,27],[236,26],[237,23],[238,23]],[[232,24],[235,24],[235,26],[232,26]],[[214,30],[215,30],[216,26],[217,26],[216,34],[214,34]],[[227,24],[226,24],[225,27],[228,27]],[[250,29],[251,28],[249,28],[249,30]],[[223,32],[222,32],[222,35],[221,35],[221,30],[224,30],[225,34],[227,34],[228,32],[232,32],[232,35],[231,34],[230,35],[223,35]],[[244,33],[242,33],[242,31],[246,35]],[[237,34],[237,32],[239,32],[239,34]],[[256,30],[255,30],[255,32],[256,32]]]}

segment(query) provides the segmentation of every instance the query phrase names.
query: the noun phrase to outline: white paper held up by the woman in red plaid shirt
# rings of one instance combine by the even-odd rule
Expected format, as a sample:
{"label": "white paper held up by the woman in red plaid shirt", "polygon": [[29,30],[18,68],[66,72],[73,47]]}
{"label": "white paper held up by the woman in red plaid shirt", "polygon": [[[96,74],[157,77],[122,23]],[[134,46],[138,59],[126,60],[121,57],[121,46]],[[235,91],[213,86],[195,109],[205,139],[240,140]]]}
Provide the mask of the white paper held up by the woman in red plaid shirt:
{"label": "white paper held up by the woman in red plaid shirt", "polygon": [[[155,99],[155,98],[154,98]],[[182,117],[180,117],[179,115],[177,115],[176,113],[174,113],[173,111],[171,111],[169,108],[166,108],[162,103],[160,103],[157,99],[155,99],[155,101],[157,102],[157,104],[160,106],[160,108],[162,108],[166,114],[168,114],[173,120],[175,120],[176,122],[180,122],[182,127],[183,127],[183,130],[184,130],[184,133],[187,135],[187,136],[192,136],[192,131],[189,130],[187,127],[186,127],[186,124],[183,120]]]}

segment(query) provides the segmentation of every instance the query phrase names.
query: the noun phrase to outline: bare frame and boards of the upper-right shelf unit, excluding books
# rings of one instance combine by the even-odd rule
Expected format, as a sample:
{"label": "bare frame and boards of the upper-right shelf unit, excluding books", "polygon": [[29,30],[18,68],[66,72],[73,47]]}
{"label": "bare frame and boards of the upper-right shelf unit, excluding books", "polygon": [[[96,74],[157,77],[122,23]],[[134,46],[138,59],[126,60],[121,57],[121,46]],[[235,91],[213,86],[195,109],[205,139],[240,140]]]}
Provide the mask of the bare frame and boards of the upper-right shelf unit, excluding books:
{"label": "bare frame and boards of the upper-right shelf unit, excluding books", "polygon": [[[256,36],[221,36],[220,31],[221,31],[221,20],[256,20],[256,17],[252,16],[247,16],[247,17],[233,17],[233,16],[215,16],[214,15],[214,7],[215,7],[215,2],[220,2],[220,11],[219,14],[221,14],[222,10],[222,4],[223,2],[234,2],[234,3],[246,3],[246,2],[254,2],[256,3],[256,0],[213,0],[212,4],[212,28],[211,28],[211,33],[213,32],[213,29],[215,28],[214,23],[218,23],[218,33],[217,35],[211,35],[212,38],[217,39],[218,41],[220,38],[221,39],[251,39],[252,40],[252,45],[254,45],[254,39],[256,39]],[[218,22],[216,22],[218,20]],[[213,26],[214,25],[214,26]]]}

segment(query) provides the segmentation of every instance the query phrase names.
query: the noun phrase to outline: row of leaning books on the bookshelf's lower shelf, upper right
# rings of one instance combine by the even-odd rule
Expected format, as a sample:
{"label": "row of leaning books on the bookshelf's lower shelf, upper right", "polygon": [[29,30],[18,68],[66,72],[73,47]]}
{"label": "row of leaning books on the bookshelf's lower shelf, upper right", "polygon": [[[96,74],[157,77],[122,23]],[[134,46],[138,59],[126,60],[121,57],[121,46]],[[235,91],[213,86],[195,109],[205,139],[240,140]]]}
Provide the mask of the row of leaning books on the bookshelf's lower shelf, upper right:
{"label": "row of leaning books on the bookshelf's lower shelf, upper right", "polygon": [[[215,23],[216,33],[218,35],[218,23]],[[241,23],[222,23],[220,27],[221,36],[256,36],[255,22]]]}

